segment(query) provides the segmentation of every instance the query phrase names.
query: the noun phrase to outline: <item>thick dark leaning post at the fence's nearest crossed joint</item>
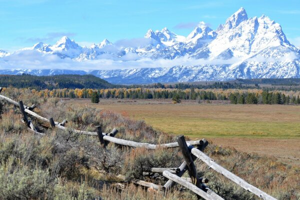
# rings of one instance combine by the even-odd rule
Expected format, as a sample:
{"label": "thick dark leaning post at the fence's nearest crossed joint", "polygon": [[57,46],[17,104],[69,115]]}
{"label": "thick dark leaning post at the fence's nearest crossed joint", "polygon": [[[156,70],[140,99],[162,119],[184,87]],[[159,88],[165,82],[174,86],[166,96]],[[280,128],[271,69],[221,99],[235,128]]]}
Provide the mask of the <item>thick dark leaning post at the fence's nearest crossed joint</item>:
{"label": "thick dark leaning post at the fence's nearest crossed joint", "polygon": [[181,153],[183,155],[184,161],[187,165],[187,170],[189,173],[189,176],[191,178],[191,182],[193,184],[195,184],[197,187],[201,188],[201,182],[199,180],[199,177],[197,175],[197,170],[196,170],[196,166],[193,162],[193,159],[191,157],[191,154],[189,152],[189,149],[187,147],[187,144],[185,142],[184,136],[178,136],[177,137],[177,142],[179,144],[179,148],[181,150]]}

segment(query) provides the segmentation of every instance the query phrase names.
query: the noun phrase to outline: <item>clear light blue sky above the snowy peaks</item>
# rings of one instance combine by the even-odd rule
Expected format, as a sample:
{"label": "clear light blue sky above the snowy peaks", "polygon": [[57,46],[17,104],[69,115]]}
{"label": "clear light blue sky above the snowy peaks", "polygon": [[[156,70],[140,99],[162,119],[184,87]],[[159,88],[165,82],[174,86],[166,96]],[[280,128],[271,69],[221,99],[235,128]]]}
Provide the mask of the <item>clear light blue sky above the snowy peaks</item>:
{"label": "clear light blue sky above the snowy peaks", "polygon": [[143,37],[168,27],[187,35],[204,21],[216,28],[239,7],[248,17],[265,14],[300,46],[299,0],[0,0],[0,49],[55,43],[63,35],[81,45]]}

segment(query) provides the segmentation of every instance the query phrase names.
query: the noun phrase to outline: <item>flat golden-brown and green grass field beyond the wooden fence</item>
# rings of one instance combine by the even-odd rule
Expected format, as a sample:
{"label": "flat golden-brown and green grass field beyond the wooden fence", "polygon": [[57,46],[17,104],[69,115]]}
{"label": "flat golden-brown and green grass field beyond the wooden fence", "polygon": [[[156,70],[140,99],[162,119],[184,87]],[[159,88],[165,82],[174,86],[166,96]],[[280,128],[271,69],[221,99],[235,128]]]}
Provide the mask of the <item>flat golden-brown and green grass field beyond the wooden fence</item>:
{"label": "flat golden-brown and green grass field beyond the wooden fence", "polygon": [[144,120],[167,133],[208,138],[246,152],[274,155],[286,162],[300,158],[300,106],[201,103],[157,99],[71,100]]}

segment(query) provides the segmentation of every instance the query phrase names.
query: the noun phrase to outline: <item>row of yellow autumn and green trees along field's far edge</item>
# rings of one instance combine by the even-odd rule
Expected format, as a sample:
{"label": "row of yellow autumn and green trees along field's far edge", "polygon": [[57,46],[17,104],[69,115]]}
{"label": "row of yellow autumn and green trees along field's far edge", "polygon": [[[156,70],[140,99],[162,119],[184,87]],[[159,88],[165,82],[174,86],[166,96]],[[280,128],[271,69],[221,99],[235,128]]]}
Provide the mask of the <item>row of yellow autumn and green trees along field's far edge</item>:
{"label": "row of yellow autumn and green trees along field's far edge", "polygon": [[299,104],[299,92],[267,91],[261,89],[161,89],[161,88],[107,88],[107,89],[16,89],[5,90],[29,91],[38,97],[58,98],[127,98],[127,99],[189,99],[189,100],[229,100],[233,104]]}

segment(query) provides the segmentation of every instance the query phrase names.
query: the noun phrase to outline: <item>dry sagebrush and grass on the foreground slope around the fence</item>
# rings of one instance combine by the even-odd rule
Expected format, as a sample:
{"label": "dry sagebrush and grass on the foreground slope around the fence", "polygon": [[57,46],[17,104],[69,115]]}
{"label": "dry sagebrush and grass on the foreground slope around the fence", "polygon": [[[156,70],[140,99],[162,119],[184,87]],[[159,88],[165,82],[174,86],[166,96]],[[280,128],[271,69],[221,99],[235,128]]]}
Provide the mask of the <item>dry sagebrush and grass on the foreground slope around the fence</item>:
{"label": "dry sagebrush and grass on the foreground slope around the fence", "polygon": [[[57,108],[53,109],[53,105]],[[15,114],[13,109],[7,109],[2,116],[19,121],[20,115]],[[109,131],[116,127],[119,129],[117,137],[125,139],[149,143],[175,140],[174,136],[154,130],[143,121],[135,121],[112,111],[92,109],[88,105],[70,105],[51,99],[40,105],[39,112],[55,116],[59,121],[67,117],[67,126],[79,129],[101,125],[104,131]],[[2,120],[0,126],[11,126],[6,123],[9,121]],[[125,175],[127,180],[146,180],[140,176],[141,170],[153,166],[178,166],[183,161],[178,149],[133,149],[112,143],[103,149],[97,137],[93,136],[54,129],[47,130],[40,137],[28,132],[24,126],[10,128],[9,132],[3,131],[4,128],[0,130],[0,182],[5,183],[0,184],[0,199],[83,200],[99,199],[100,196],[104,199],[195,199],[192,192],[180,191],[176,187],[163,196],[132,184],[125,185],[121,191],[111,186],[111,183],[120,181],[117,174]],[[213,144],[209,144],[205,152],[217,163],[280,200],[300,197],[298,166],[280,163],[273,157],[243,153]],[[208,186],[224,199],[257,199],[209,170],[202,162],[196,162],[196,165],[199,176],[208,177]],[[166,180],[156,181],[163,184]]]}

